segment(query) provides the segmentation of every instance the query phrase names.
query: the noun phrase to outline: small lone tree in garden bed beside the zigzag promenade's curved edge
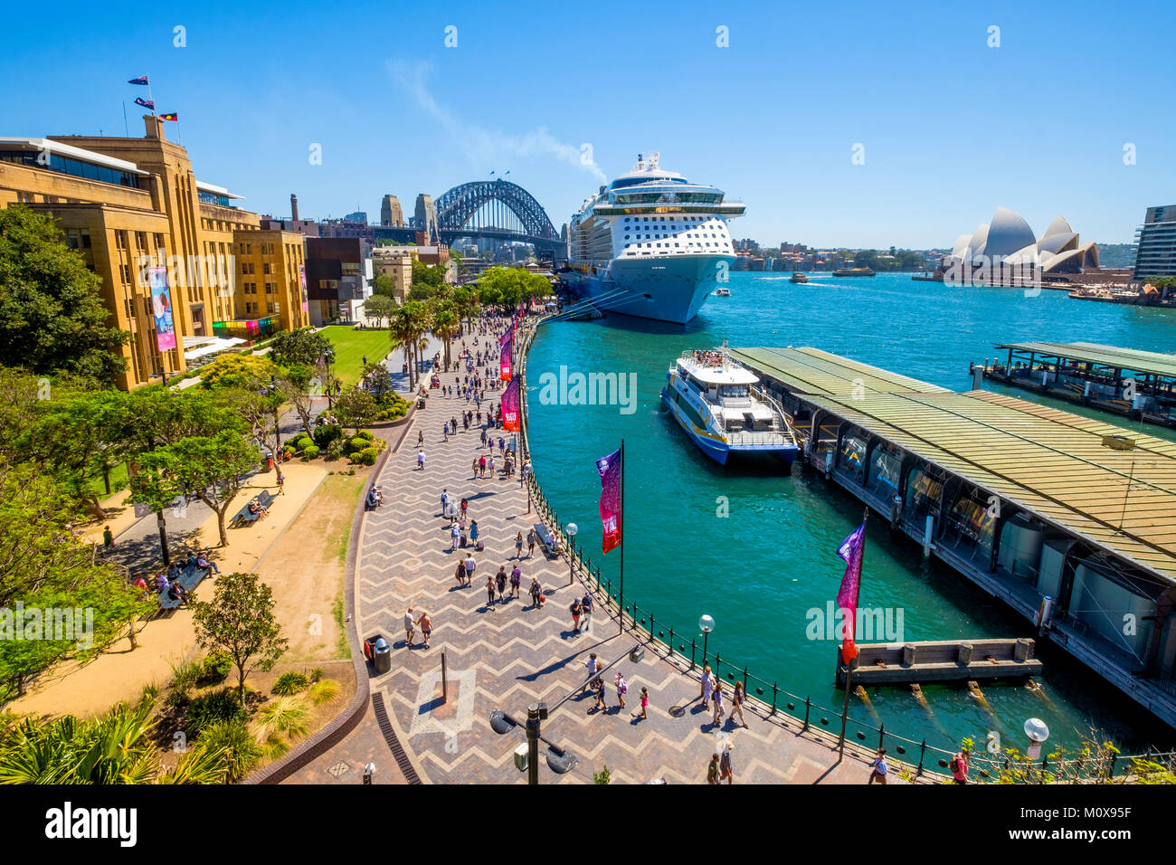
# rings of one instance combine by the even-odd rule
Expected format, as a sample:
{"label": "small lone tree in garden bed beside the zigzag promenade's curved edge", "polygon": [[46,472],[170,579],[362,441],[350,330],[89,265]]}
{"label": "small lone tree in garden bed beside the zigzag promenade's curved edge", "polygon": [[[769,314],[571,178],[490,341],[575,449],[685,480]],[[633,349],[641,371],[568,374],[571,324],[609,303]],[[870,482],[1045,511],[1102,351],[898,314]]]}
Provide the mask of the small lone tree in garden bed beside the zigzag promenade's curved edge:
{"label": "small lone tree in garden bed beside the zigzag promenade's curved edge", "polygon": [[223,574],[212,601],[193,604],[192,620],[202,647],[233,659],[238,696],[245,705],[245,678],[254,670],[272,670],[288,645],[274,618],[269,586],[255,573]]}

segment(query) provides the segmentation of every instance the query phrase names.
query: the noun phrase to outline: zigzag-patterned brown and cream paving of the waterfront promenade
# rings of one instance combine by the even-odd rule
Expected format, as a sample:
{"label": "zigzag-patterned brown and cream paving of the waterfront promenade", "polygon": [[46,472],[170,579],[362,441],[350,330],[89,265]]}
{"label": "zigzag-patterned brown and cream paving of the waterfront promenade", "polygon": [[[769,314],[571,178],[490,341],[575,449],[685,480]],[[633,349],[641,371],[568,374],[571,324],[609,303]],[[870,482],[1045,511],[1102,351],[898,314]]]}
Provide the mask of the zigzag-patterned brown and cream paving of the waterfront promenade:
{"label": "zigzag-patterned brown and cream paving of the waterfront promenade", "polygon": [[[465,407],[463,399],[434,392],[427,407],[416,412],[405,446],[389,454],[379,479],[387,504],[363,518],[355,620],[361,640],[382,634],[393,645],[392,670],[373,678],[372,692],[382,692],[392,725],[425,783],[526,783],[526,773],[514,765],[514,748],[526,741],[523,731],[496,734],[489,713],[501,708],[522,719],[529,703],[554,704],[583,680],[589,652],[608,663],[627,654],[641,637],[620,636],[616,620],[600,612],[599,597],[594,633],[574,634],[568,605],[574,593],[583,594],[586,588],[579,580],[568,587],[567,560],[548,560],[540,547],[534,558],[527,558],[523,550],[522,599],[487,605],[487,573],[495,574],[500,565],[509,573],[515,533],[526,535],[539,517],[527,513],[527,493],[517,479],[502,479],[501,472],[494,479],[472,479],[470,461],[485,452],[476,426],[449,437],[448,443],[441,440],[437,427]],[[425,431],[423,471],[416,468],[412,446],[416,430]],[[454,577],[462,553],[449,550],[442,488],[454,501],[469,500],[469,515],[477,520],[479,537],[486,544],[485,552],[475,553],[470,587],[459,587]],[[533,607],[528,594],[536,575],[548,593],[542,608]],[[409,605],[417,616],[428,611],[433,620],[429,648],[421,647],[420,633],[412,648],[405,645],[402,621]],[[697,678],[654,648],[646,647],[640,664],[626,659],[606,673],[607,711],[593,711],[594,698],[581,694],[552,712],[543,723],[543,737],[568,748],[580,764],[564,776],[541,765],[541,784],[592,783],[593,772],[604,764],[613,783],[660,778],[673,784],[706,783],[710,754],[727,737],[734,743],[737,784],[866,781],[869,768],[863,751],[847,746],[846,759],[838,761],[835,740],[830,744],[823,732],[801,733],[790,719],[769,719],[766,707],[747,712],[749,728],[730,719],[724,727],[714,727],[710,712],[701,706]],[[442,699],[442,652],[448,699]],[[617,708],[612,686],[617,670],[629,683],[623,710]],[[633,716],[642,686],[649,690],[647,720]],[[356,760],[366,759],[375,759],[387,773],[379,780],[401,780],[370,712],[343,741],[290,780],[327,783],[333,776],[323,772],[347,763],[353,770],[336,780],[354,783],[362,772]],[[894,772],[891,779],[898,780]]]}

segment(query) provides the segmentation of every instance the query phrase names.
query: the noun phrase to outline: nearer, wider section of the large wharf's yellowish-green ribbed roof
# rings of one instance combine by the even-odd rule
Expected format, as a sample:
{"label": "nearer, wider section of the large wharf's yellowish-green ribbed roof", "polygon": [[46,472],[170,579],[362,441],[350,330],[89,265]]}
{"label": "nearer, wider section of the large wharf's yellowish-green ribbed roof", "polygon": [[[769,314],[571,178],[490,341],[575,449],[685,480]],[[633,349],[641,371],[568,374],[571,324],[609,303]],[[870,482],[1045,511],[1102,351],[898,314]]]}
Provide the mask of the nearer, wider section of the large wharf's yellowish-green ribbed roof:
{"label": "nearer, wider section of the large wharf's yellowish-green ribbed roof", "polygon": [[1176,583],[1174,441],[988,391],[804,401]]}

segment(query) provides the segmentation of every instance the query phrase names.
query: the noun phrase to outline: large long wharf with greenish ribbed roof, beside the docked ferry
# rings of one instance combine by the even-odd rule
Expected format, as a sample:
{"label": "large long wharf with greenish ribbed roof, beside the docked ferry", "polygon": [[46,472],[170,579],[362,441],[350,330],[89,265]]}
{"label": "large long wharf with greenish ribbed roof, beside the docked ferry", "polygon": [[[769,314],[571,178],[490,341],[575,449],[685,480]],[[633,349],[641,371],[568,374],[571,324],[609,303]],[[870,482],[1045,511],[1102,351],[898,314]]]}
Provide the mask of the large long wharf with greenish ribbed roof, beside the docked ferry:
{"label": "large long wharf with greenish ribbed roof, beside the docked ferry", "polygon": [[816,348],[737,348],[804,465],[1176,726],[1176,443]]}

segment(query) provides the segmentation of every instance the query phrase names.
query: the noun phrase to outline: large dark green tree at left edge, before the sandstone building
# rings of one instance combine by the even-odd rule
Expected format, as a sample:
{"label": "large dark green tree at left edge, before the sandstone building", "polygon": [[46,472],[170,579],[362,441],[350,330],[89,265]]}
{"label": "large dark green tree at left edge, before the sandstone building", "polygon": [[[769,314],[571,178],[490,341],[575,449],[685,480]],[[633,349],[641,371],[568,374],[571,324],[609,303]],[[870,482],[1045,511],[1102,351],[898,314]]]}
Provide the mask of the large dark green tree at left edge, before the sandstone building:
{"label": "large dark green tree at left edge, before the sandstone building", "polygon": [[129,334],[111,327],[101,288],[52,217],[0,209],[0,364],[112,384]]}

